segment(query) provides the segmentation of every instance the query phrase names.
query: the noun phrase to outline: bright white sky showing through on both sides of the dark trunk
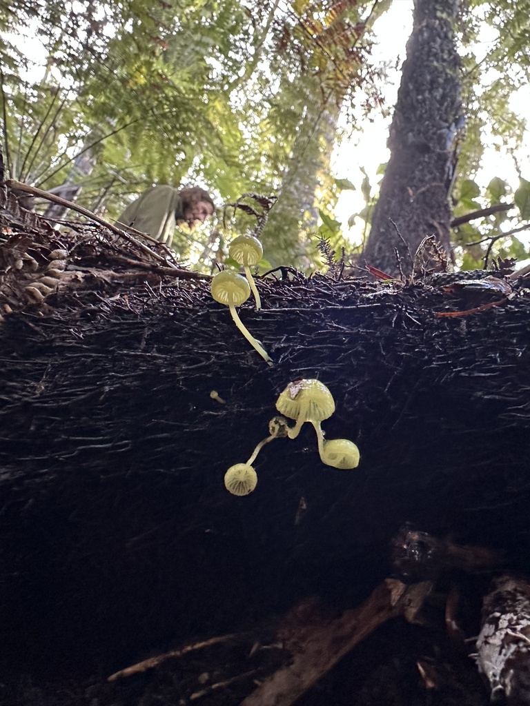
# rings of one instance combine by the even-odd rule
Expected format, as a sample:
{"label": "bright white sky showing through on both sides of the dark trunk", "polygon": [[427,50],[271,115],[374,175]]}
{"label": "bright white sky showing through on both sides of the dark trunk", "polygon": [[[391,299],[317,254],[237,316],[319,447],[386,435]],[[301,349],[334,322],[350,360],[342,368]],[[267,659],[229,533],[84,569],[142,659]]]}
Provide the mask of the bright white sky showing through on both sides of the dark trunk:
{"label": "bright white sky showing through on both sides of the dark trunk", "polygon": [[[389,107],[392,107],[396,102],[401,78],[401,65],[406,58],[406,42],[412,30],[412,13],[413,0],[394,0],[389,10],[377,20],[374,26],[375,32],[377,32],[378,44],[374,47],[372,55],[375,61],[390,61],[393,67],[389,71],[385,90]],[[486,50],[493,37],[484,35],[479,37],[479,39],[483,42]],[[397,71],[394,70],[395,66],[397,66]],[[514,96],[512,107],[517,112],[526,114],[527,109],[525,106],[529,104],[530,87],[525,86]],[[337,219],[343,224],[343,234],[353,242],[360,241],[364,226],[364,223],[357,219],[356,224],[351,229],[348,229],[348,218],[352,214],[358,213],[365,206],[363,194],[360,191],[363,173],[360,172],[359,167],[363,167],[366,170],[372,187],[382,179],[382,176],[377,175],[376,172],[379,164],[387,162],[389,159],[387,138],[390,121],[391,115],[385,119],[380,112],[374,112],[370,116],[370,121],[365,120],[363,133],[355,133],[351,140],[336,148],[334,153],[332,161],[334,174],[338,179],[349,179],[356,187],[356,191],[343,191],[341,193],[335,209]],[[522,176],[530,180],[530,172],[525,173],[528,172],[526,164],[529,163],[530,135],[526,133],[524,148],[519,152],[519,166],[523,170]],[[517,189],[519,185],[517,170],[512,158],[507,155],[506,150],[496,150],[492,145],[491,148],[485,150],[481,169],[474,178],[480,186],[485,187],[493,177],[505,179],[512,186],[512,189]],[[523,232],[518,237],[525,244],[530,243],[528,232]]]}

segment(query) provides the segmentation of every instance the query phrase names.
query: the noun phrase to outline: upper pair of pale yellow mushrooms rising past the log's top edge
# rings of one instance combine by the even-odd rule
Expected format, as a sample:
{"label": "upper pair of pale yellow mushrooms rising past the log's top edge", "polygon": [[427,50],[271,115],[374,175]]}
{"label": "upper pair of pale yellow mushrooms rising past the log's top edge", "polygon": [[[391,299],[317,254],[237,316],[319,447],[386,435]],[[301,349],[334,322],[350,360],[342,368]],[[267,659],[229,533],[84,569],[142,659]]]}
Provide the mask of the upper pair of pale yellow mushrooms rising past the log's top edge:
{"label": "upper pair of pale yellow mushrooms rising past the log's top edge", "polygon": [[232,240],[228,253],[232,260],[235,260],[237,263],[242,265],[245,270],[245,275],[247,275],[247,279],[245,280],[245,277],[242,277],[242,275],[237,275],[231,270],[223,270],[222,272],[217,273],[217,275],[214,275],[211,281],[211,295],[213,299],[218,301],[220,304],[225,304],[228,306],[237,328],[239,328],[249,344],[257,350],[266,363],[268,365],[272,365],[273,363],[269,354],[259,343],[259,341],[257,341],[249,332],[237,315],[237,311],[235,311],[236,306],[240,306],[247,301],[250,297],[251,291],[254,294],[254,299],[256,300],[256,309],[261,309],[261,299],[259,297],[259,292],[257,290],[256,283],[254,282],[254,277],[252,277],[250,268],[257,265],[261,260],[263,256],[263,248],[261,247],[259,240],[253,235],[240,235]]}

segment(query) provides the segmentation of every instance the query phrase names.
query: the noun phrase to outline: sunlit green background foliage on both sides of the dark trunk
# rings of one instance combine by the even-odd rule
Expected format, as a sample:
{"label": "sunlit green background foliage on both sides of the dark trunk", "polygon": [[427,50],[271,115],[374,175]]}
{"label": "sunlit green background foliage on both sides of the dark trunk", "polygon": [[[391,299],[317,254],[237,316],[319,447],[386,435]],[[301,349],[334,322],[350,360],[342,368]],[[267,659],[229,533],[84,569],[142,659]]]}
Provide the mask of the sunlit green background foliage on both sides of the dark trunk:
{"label": "sunlit green background foliage on both sides of the dark trunk", "polygon": [[[44,189],[78,184],[79,203],[110,218],[155,183],[201,184],[218,202],[247,191],[277,195],[262,237],[267,263],[311,269],[319,263],[319,236],[336,251],[346,245],[333,210],[338,193],[354,186],[334,179],[329,159],[338,116],[348,113],[355,92],[363,88],[367,100],[380,100],[367,54],[372,23],[389,4],[4,3],[0,109],[9,172]],[[500,148],[521,143],[524,120],[511,98],[530,78],[530,0],[468,5],[460,18],[468,119],[458,138],[455,215],[513,198],[519,216],[530,220],[529,182],[522,179],[512,194],[495,177],[481,193],[476,179],[486,136]],[[483,28],[493,40],[483,41]],[[32,59],[37,42],[40,64]],[[366,173],[360,191],[365,206],[350,221],[363,220],[366,234],[375,200]],[[177,232],[174,247],[193,260],[212,243],[222,250],[246,225],[239,214],[230,234],[223,227],[215,237],[208,229]],[[513,212],[462,225],[459,256],[474,266],[488,248],[488,256],[527,256],[514,235],[492,242],[520,225]]]}

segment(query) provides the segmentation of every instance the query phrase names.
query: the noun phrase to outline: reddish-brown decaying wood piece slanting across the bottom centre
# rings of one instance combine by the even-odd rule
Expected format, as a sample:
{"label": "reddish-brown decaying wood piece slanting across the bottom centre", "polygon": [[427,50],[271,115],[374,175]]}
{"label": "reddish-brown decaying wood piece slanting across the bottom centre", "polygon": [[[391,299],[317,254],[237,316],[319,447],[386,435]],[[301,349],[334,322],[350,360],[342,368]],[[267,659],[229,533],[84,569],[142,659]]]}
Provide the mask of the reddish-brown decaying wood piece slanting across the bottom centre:
{"label": "reddish-brown decaying wood piece slanting across the bottom centre", "polygon": [[285,640],[293,662],[267,678],[241,706],[290,706],[372,630],[396,616],[414,622],[432,582],[406,586],[387,579],[358,608],[318,626],[301,626]]}

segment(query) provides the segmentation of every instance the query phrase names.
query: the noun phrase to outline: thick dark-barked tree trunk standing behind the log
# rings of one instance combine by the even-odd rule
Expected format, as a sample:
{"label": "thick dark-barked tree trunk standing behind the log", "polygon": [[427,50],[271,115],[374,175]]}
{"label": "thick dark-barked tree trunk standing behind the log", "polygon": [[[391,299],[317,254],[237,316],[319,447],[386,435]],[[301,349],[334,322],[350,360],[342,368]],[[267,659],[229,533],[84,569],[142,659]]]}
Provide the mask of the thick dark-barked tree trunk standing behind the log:
{"label": "thick dark-barked tree trunk standing behind the log", "polygon": [[389,274],[399,273],[396,251],[402,270],[410,272],[428,235],[451,254],[448,196],[461,119],[457,8],[457,0],[416,0],[390,128],[391,157],[363,253],[363,261]]}

